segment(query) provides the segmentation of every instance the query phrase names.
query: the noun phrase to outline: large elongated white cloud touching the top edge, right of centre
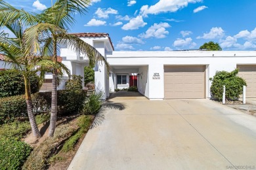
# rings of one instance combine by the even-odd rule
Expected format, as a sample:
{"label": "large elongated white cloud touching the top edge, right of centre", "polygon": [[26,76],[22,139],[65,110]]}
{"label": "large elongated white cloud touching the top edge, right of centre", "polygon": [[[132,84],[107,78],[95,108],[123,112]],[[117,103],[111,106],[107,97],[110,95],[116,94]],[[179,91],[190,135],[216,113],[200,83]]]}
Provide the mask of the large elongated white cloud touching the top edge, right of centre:
{"label": "large elongated white cloud touching the top edge, right of centre", "polygon": [[147,14],[159,14],[162,12],[176,12],[179,9],[188,6],[188,3],[198,3],[202,0],[160,0],[152,6],[144,5],[140,8],[140,14],[147,16]]}

